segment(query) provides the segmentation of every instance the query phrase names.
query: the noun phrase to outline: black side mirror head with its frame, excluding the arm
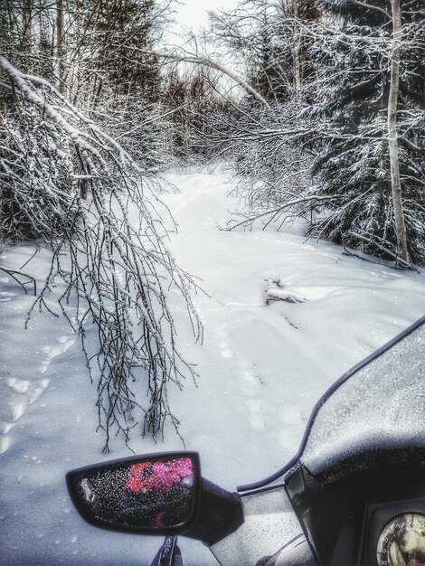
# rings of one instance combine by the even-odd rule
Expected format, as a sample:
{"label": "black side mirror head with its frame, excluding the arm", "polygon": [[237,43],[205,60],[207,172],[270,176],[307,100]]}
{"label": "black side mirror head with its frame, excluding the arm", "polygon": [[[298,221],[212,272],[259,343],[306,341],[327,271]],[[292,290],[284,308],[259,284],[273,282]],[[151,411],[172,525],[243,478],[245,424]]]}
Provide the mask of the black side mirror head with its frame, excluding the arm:
{"label": "black side mirror head with its frame, excluding the arm", "polygon": [[184,533],[194,524],[201,471],[195,452],[123,458],[72,470],[73,504],[90,524],[146,534]]}

